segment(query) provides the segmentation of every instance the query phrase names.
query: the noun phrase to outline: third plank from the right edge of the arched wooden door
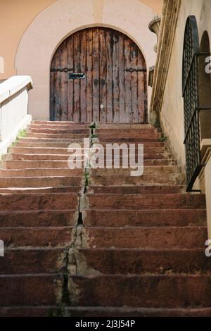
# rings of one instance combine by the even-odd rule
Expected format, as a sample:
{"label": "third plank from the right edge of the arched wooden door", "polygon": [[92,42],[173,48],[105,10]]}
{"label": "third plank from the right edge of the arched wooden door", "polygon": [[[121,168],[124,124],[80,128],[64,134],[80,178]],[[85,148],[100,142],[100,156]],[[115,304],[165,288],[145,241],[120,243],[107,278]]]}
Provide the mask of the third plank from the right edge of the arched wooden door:
{"label": "third plank from the right edge of the arched wooden door", "polygon": [[[130,42],[128,37],[124,37],[124,70],[130,68]],[[126,123],[132,122],[132,92],[131,92],[131,73],[124,71],[124,118]]]}

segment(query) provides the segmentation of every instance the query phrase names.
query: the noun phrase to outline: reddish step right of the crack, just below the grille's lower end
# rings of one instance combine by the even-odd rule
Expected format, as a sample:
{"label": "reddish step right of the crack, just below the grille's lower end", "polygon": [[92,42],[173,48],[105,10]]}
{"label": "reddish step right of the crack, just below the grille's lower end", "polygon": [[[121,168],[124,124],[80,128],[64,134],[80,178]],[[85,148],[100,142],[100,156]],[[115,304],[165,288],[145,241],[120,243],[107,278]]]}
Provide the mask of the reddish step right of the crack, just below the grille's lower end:
{"label": "reddish step right of the crack, just below the grille's lower end", "polygon": [[205,209],[204,194],[87,194],[94,209]]}

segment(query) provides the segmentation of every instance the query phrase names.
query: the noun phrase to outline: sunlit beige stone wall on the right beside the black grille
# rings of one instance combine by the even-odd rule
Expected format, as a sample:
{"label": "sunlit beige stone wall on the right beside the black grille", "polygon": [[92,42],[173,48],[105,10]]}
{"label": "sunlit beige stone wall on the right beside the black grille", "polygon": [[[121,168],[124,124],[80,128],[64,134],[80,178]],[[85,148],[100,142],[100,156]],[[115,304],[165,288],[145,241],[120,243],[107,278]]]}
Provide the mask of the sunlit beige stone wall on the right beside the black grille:
{"label": "sunlit beige stone wall on the right beside the black grille", "polygon": [[177,28],[174,37],[170,67],[160,111],[160,124],[168,137],[174,156],[185,169],[184,104],[182,99],[182,53],[184,30],[188,15],[195,15],[199,39],[207,30],[211,37],[210,0],[181,0]]}

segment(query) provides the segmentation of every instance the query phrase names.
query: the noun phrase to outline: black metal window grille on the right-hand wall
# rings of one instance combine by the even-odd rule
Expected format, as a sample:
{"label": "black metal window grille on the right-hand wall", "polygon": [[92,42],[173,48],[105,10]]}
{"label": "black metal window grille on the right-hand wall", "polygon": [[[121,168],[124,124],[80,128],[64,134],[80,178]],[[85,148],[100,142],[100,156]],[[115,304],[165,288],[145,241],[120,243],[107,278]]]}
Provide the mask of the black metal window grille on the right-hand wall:
{"label": "black metal window grille on the right-hand wall", "polygon": [[183,97],[184,129],[186,149],[187,192],[193,191],[193,185],[203,168],[200,156],[200,107],[198,89],[198,60],[200,56],[209,56],[200,52],[198,27],[195,16],[189,16],[186,22],[183,51]]}

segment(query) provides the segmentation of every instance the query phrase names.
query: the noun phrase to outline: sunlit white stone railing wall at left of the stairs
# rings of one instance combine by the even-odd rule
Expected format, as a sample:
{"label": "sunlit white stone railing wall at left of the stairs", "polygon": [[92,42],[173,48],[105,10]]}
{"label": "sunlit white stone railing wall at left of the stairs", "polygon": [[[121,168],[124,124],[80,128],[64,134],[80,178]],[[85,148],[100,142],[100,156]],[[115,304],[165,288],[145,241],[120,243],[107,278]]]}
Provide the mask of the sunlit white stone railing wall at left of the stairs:
{"label": "sunlit white stone railing wall at left of the stairs", "polygon": [[0,84],[0,155],[7,152],[18,132],[32,121],[28,114],[30,76],[13,76]]}

